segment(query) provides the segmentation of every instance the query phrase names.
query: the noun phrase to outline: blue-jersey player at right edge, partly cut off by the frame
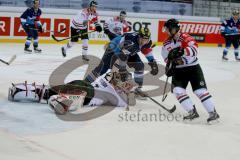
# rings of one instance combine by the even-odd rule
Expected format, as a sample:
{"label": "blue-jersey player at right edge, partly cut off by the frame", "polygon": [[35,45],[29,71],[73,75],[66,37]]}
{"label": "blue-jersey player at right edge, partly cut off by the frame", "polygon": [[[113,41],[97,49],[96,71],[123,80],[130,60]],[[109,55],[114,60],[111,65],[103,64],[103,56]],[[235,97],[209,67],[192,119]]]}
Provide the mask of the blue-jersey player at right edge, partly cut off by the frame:
{"label": "blue-jersey player at right edge, partly cut off by the frame", "polygon": [[233,10],[232,17],[226,19],[221,25],[221,34],[225,38],[226,47],[223,50],[223,60],[228,60],[227,53],[231,45],[234,47],[235,59],[240,61],[239,58],[239,39],[240,39],[240,20],[239,11]]}

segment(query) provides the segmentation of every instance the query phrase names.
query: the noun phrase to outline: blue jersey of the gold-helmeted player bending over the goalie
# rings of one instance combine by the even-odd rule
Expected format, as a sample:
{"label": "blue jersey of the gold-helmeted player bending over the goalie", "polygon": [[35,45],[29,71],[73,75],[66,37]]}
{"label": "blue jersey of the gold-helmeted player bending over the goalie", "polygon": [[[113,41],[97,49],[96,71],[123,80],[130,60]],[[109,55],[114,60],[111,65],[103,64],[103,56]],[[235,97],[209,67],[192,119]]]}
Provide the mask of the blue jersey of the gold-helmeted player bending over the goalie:
{"label": "blue jersey of the gold-helmeted player bending over the goalie", "polygon": [[141,52],[142,54],[144,54],[144,56],[149,62],[154,60],[151,48],[152,40],[149,40],[147,44],[140,46],[139,34],[136,32],[124,33],[122,36],[117,36],[110,42],[109,47],[113,50],[114,54],[119,55],[123,49],[123,45],[125,42],[128,42],[128,44],[132,46],[130,47],[131,49],[128,50],[130,52],[130,56]]}

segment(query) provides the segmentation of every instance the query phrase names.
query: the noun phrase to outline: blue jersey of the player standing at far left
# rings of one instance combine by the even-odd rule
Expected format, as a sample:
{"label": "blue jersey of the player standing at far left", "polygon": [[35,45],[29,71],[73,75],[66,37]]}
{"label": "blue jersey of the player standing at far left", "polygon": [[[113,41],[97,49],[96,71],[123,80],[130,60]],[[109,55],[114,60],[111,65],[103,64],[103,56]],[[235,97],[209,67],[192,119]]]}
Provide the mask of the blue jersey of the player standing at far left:
{"label": "blue jersey of the player standing at far left", "polygon": [[22,15],[21,15],[21,23],[29,24],[29,25],[37,25],[41,26],[40,16],[42,14],[41,9],[34,10],[34,8],[28,8]]}

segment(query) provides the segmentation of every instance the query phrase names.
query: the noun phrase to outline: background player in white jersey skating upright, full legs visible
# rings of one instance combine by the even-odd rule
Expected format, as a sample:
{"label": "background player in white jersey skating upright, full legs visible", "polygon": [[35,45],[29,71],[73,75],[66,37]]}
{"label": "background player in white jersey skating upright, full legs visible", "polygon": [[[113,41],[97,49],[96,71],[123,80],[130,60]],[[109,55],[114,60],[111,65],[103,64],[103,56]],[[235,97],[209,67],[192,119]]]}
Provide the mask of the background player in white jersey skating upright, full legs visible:
{"label": "background player in white jersey skating upright, full legs visible", "polygon": [[95,30],[97,32],[102,31],[102,27],[98,23],[98,13],[96,11],[97,2],[91,1],[89,4],[89,8],[83,9],[78,12],[76,16],[73,17],[71,21],[71,40],[62,47],[62,55],[65,57],[66,52],[69,48],[71,48],[74,44],[77,44],[79,38],[82,39],[82,56],[83,60],[88,61],[88,24],[94,24]]}

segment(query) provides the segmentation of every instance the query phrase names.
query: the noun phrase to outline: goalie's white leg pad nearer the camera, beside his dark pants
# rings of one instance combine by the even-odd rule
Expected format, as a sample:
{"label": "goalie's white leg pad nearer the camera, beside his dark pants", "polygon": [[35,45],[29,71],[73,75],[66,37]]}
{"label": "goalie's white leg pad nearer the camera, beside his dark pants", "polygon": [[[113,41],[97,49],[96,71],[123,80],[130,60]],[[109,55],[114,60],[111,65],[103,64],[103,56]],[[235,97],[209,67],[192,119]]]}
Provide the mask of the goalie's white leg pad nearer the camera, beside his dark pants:
{"label": "goalie's white leg pad nearer the camera, beside his dark pants", "polygon": [[67,112],[76,111],[83,106],[87,93],[81,94],[58,94],[49,98],[48,104],[57,114],[66,114]]}

